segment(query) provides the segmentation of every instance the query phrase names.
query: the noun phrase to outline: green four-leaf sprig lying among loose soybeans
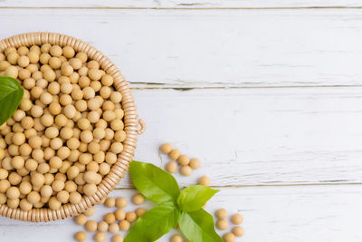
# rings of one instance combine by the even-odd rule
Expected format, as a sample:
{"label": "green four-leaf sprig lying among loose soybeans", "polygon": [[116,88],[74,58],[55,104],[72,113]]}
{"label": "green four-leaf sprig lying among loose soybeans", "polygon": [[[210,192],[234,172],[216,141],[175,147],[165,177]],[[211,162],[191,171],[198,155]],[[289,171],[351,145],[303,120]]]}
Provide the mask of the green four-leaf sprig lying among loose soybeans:
{"label": "green four-leaf sprig lying among loose soybeans", "polygon": [[152,242],[179,224],[192,242],[222,242],[214,230],[214,218],[202,207],[219,190],[203,185],[180,191],[176,179],[156,166],[132,161],[130,176],[135,187],[149,200],[159,204],[138,218],[125,242]]}

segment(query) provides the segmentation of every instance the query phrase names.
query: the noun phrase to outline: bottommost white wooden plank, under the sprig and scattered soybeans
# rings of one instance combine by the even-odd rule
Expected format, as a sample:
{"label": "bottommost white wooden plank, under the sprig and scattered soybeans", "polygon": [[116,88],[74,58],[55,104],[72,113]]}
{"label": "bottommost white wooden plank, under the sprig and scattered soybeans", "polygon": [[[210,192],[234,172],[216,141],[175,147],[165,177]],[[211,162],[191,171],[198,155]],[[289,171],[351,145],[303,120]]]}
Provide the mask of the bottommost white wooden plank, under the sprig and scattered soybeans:
{"label": "bottommost white wooden plank, under the sprig and scattered soybeans", "polygon": [[[111,195],[130,198],[133,193],[131,190],[117,190]],[[361,186],[259,187],[222,189],[206,209],[214,213],[217,208],[226,208],[230,214],[237,211],[243,214],[245,236],[237,241],[359,242],[362,239],[358,223],[362,219],[361,202]],[[145,206],[150,208],[150,204]],[[98,206],[92,219],[100,221],[102,215],[112,210]],[[0,218],[0,228],[3,231],[1,241],[29,242],[37,242],[40,237],[53,242],[71,241],[71,236],[82,230],[71,218],[51,224]],[[174,233],[176,231],[158,241],[167,242]],[[92,241],[93,233],[88,233],[88,236],[87,241]],[[109,241],[110,234],[107,234],[107,239]]]}

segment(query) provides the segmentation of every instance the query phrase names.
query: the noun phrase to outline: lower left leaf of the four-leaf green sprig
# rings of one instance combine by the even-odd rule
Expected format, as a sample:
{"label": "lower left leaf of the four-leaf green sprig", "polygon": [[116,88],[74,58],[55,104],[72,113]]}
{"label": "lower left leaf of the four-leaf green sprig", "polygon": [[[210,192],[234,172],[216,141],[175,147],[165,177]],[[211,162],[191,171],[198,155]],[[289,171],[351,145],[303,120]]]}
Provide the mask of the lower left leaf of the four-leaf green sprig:
{"label": "lower left leaf of the four-leaf green sprig", "polygon": [[172,203],[162,204],[138,218],[124,242],[153,242],[176,227],[180,210]]}

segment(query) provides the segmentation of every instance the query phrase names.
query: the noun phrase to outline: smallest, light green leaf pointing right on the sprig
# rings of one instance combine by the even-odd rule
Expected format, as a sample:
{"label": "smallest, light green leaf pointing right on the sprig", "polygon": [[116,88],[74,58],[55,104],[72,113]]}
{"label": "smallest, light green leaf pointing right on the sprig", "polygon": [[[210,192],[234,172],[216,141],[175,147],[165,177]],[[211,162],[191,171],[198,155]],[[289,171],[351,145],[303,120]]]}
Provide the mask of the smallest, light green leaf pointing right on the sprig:
{"label": "smallest, light green leaf pointing right on the sprig", "polygon": [[219,190],[209,189],[203,185],[190,186],[183,189],[177,198],[178,207],[186,212],[203,208],[205,203]]}

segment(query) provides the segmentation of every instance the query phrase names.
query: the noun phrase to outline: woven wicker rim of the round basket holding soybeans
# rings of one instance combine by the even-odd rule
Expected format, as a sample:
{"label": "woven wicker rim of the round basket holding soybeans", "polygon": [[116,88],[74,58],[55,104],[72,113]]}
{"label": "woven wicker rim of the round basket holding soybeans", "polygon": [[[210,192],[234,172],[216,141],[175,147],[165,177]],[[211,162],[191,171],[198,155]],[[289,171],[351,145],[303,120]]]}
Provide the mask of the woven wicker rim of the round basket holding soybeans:
{"label": "woven wicker rim of the round basket holding soybeans", "polygon": [[[60,46],[70,45],[76,52],[84,52],[88,54],[90,59],[100,63],[100,67],[106,73],[109,73],[114,78],[116,89],[121,92],[122,109],[124,111],[125,131],[127,134],[126,140],[123,142],[123,151],[119,154],[117,162],[110,169],[110,173],[101,181],[95,195],[91,197],[81,198],[79,204],[65,204],[58,210],[49,208],[33,208],[29,211],[23,211],[20,208],[9,208],[6,205],[0,206],[0,215],[8,218],[14,218],[24,221],[41,222],[51,221],[62,218],[69,218],[77,215],[94,204],[105,198],[112,189],[116,187],[120,179],[123,178],[125,172],[129,169],[129,162],[132,160],[134,151],[137,145],[138,135],[145,131],[145,123],[138,120],[137,108],[134,102],[132,93],[129,89],[129,83],[125,81],[123,75],[110,59],[96,50],[90,44],[86,44],[81,40],[67,36],[64,34],[55,33],[28,33],[19,34],[7,38],[0,42],[0,51],[3,52],[6,47],[14,46],[30,46],[33,44],[58,44]],[[140,129],[138,130],[138,126]]]}

